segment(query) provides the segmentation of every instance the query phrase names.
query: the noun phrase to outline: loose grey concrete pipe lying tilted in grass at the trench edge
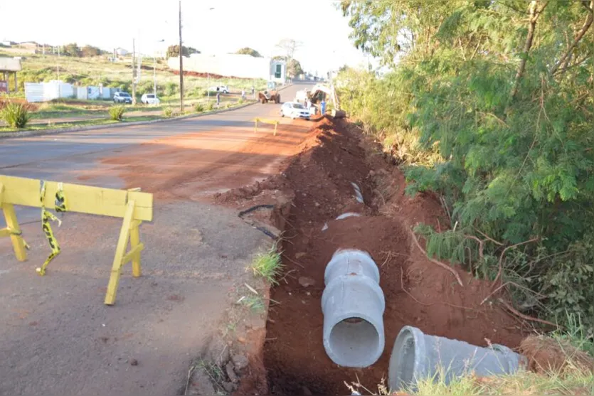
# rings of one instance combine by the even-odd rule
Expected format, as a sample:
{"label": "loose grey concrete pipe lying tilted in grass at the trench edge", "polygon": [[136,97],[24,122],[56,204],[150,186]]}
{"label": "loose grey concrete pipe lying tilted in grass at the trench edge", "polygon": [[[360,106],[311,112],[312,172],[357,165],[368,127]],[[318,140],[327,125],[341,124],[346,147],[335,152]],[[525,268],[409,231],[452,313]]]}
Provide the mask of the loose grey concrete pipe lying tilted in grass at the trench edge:
{"label": "loose grey concrete pipe lying tilted in grass at the trench edge", "polygon": [[433,378],[449,384],[463,375],[512,374],[524,358],[507,346],[489,348],[445,337],[427,336],[418,328],[404,326],[392,350],[388,368],[391,390],[415,390],[418,380]]}

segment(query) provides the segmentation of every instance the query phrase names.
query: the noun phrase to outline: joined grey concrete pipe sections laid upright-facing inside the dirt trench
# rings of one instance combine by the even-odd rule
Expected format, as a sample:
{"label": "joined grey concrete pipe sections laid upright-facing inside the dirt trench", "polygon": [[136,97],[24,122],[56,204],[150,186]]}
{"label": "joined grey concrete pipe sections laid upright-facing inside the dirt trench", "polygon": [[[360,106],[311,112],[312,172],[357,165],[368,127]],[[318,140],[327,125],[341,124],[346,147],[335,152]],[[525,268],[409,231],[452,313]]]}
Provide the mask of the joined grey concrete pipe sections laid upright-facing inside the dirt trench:
{"label": "joined grey concrete pipe sections laid upright-facing inside the dirt trench", "polygon": [[326,266],[322,294],[324,348],[344,367],[363,368],[383,353],[383,311],[379,270],[368,253],[337,250]]}

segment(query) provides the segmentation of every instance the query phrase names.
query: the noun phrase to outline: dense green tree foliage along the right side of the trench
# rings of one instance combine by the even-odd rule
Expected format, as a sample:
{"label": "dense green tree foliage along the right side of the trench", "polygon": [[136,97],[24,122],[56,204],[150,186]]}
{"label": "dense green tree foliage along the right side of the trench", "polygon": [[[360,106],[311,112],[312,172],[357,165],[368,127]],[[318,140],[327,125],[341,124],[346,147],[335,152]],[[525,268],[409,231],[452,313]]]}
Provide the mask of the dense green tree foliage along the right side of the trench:
{"label": "dense green tree foliage along the right side of the trench", "polygon": [[539,293],[519,306],[594,327],[594,1],[341,6],[392,67],[341,71],[342,105],[450,215],[452,230],[418,230],[428,252],[491,278],[501,261]]}

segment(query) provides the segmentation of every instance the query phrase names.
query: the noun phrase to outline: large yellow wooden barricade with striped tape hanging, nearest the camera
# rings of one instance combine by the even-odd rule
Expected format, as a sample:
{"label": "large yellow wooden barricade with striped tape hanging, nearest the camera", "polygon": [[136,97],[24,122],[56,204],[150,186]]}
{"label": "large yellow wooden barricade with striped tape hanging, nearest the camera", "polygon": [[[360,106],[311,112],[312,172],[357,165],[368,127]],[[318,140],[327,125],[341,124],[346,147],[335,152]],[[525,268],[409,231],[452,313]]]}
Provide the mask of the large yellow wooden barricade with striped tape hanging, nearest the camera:
{"label": "large yellow wooden barricade with striped tape hanging, nearest the camera", "polygon": [[[140,242],[139,226],[143,221],[153,219],[152,194],[142,193],[139,188],[126,191],[0,175],[0,208],[6,220],[6,228],[0,229],[0,237],[11,238],[14,255],[22,262],[27,259],[28,245],[18,225],[14,205],[41,208],[42,228],[51,247],[51,255],[41,268],[36,269],[38,274],[45,274],[49,262],[60,253],[60,246],[49,225],[49,220],[57,219],[46,209],[55,208],[57,212],[68,211],[124,219],[115,248],[105,304],[115,304],[124,264],[132,262],[132,276],[141,275],[140,252],[144,250],[144,244]],[[128,241],[130,250],[126,252]]]}

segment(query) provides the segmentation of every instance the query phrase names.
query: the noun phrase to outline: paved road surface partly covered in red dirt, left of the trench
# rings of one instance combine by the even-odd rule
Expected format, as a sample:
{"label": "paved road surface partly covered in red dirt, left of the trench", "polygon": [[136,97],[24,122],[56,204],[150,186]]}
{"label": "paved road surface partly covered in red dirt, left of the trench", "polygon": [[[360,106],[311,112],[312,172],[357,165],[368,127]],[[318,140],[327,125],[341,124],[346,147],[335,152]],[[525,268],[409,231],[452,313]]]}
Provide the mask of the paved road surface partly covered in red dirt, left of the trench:
{"label": "paved road surface partly covered in red dirt, left of the trench", "polygon": [[132,279],[124,267],[111,307],[102,301],[121,220],[66,213],[54,227],[62,253],[39,277],[34,269],[50,252],[40,214],[18,208],[31,251],[16,262],[8,238],[0,240],[1,395],[183,392],[189,363],[226,326],[230,296],[242,292],[250,257],[268,240],[203,198],[265,177],[295,152],[311,123],[283,119],[276,137],[270,127],[253,132],[253,117],[278,109],[258,104],[127,129],[0,140],[2,174],[138,185],[155,194],[154,222],[141,228],[143,276]]}

